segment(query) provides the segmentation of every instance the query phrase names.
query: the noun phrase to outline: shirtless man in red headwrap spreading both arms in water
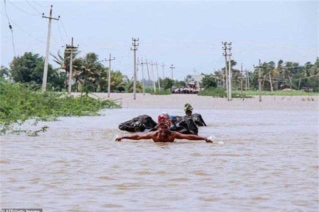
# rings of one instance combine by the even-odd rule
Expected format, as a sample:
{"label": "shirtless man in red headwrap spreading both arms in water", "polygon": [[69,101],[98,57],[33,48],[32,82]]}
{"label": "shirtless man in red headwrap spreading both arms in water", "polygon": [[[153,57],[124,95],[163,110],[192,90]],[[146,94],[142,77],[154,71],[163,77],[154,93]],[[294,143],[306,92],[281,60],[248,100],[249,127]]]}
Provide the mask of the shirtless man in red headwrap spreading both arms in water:
{"label": "shirtless man in red headwrap spreading both arms in water", "polygon": [[154,142],[174,142],[174,139],[187,139],[187,140],[204,140],[212,143],[213,141],[209,138],[205,138],[198,135],[181,134],[179,132],[168,130],[171,124],[171,120],[162,114],[158,116],[157,130],[148,132],[146,134],[134,134],[116,138],[116,141],[122,139],[140,140],[140,139],[153,139]]}

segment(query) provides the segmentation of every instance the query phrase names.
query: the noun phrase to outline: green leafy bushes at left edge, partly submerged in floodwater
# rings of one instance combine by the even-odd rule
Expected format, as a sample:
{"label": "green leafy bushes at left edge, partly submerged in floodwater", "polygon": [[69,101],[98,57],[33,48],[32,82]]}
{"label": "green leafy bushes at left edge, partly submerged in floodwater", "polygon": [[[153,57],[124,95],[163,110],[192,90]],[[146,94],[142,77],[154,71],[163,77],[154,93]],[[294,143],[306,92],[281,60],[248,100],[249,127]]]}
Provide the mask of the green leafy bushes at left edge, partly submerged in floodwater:
{"label": "green leafy bushes at left edge, partly submerged in floodwater", "polygon": [[120,107],[113,100],[96,100],[88,95],[75,98],[65,93],[34,91],[27,84],[9,83],[0,79],[0,135],[26,133],[37,135],[48,126],[30,131],[15,129],[28,119],[38,121],[56,120],[61,116],[99,115],[103,108]]}

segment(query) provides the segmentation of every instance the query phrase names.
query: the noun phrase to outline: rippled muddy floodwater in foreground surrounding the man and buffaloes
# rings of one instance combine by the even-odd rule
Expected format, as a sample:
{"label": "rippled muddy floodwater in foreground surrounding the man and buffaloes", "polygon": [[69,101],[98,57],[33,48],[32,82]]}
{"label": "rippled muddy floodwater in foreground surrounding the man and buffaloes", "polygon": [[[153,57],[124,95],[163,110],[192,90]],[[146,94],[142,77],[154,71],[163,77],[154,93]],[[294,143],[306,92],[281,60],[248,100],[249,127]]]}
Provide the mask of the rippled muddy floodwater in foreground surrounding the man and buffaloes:
{"label": "rippled muddy floodwater in foreground surrounding the man and buffaloes", "polygon": [[[1,208],[319,211],[318,110],[197,109],[215,143],[124,139],[120,122],[163,108],[65,117],[1,136]],[[165,109],[183,115],[180,109]]]}

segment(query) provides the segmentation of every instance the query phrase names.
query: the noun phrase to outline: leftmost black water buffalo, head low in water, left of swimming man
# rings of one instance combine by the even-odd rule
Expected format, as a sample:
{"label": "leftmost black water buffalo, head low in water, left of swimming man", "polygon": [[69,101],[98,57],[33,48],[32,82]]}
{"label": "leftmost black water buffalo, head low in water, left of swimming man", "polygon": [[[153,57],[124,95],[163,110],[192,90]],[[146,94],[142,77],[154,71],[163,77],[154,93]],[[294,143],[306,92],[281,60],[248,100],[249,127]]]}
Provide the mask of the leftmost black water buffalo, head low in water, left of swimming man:
{"label": "leftmost black water buffalo, head low in water, left of swimming man", "polygon": [[149,115],[139,115],[131,120],[119,124],[119,129],[128,132],[143,132],[156,127],[157,123]]}

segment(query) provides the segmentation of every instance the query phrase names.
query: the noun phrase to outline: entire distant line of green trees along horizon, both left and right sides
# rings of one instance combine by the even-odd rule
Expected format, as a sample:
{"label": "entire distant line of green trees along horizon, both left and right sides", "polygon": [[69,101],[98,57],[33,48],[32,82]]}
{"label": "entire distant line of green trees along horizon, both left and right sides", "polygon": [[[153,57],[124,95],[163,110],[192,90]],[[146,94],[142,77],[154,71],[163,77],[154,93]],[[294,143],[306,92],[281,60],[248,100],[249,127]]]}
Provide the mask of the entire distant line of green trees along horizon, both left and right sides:
{"label": "entire distant line of green trees along horizon, both left and right sides", "polygon": [[[87,53],[84,57],[79,57],[79,51],[73,53],[72,65],[72,92],[108,92],[108,71],[109,68],[102,64],[96,53]],[[47,90],[67,91],[70,73],[71,53],[66,48],[63,54],[58,51],[56,55],[51,54],[57,68],[48,66]],[[245,71],[243,76],[241,71],[234,69],[236,61],[231,61],[232,89],[240,89],[240,79],[243,77],[244,89],[258,90],[258,72]],[[319,91],[319,58],[312,64],[307,62],[304,66],[296,62],[265,62],[267,66],[261,68],[262,88],[264,91],[280,90],[282,85],[289,85],[292,89],[307,89]],[[226,67],[228,69],[228,67]],[[22,56],[14,57],[9,64],[9,68],[1,66],[0,76],[11,79],[14,82],[28,83],[30,87],[40,87],[42,85],[44,69],[44,58],[32,52],[25,52]],[[184,81],[173,81],[170,78],[159,79],[160,87],[163,90],[170,90],[171,87],[186,86]],[[143,82],[137,82],[137,92],[143,92]],[[144,79],[146,92],[154,92],[152,80]],[[213,74],[205,75],[202,79],[201,88],[226,88],[225,67],[215,71]],[[156,82],[158,89],[158,82]],[[133,78],[123,75],[119,70],[111,70],[110,92],[133,92]]]}

